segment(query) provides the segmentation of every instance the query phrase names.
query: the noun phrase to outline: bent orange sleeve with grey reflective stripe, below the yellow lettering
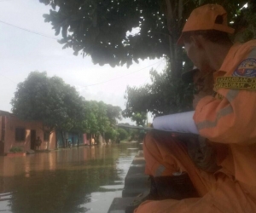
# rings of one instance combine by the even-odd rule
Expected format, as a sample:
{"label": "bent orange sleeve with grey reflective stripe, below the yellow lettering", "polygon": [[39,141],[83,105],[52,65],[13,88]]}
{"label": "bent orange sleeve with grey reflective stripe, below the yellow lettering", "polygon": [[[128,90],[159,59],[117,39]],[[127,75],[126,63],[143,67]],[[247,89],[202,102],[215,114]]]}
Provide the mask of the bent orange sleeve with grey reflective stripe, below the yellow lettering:
{"label": "bent orange sleeve with grey reflective stripe, below the yellow lettering", "polygon": [[200,135],[220,143],[256,142],[256,91],[220,89],[223,100],[207,96],[195,109]]}

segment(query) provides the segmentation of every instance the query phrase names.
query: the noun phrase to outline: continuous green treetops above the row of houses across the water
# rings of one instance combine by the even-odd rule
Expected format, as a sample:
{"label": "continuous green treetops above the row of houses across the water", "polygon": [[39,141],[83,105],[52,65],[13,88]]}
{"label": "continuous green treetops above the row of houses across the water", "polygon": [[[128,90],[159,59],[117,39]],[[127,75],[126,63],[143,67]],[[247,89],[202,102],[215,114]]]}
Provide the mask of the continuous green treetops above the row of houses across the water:
{"label": "continuous green treetops above the row of houses across the water", "polygon": [[120,107],[102,101],[85,101],[75,88],[46,72],[31,72],[18,84],[12,99],[13,112],[21,119],[39,120],[47,131],[103,134],[120,118]]}

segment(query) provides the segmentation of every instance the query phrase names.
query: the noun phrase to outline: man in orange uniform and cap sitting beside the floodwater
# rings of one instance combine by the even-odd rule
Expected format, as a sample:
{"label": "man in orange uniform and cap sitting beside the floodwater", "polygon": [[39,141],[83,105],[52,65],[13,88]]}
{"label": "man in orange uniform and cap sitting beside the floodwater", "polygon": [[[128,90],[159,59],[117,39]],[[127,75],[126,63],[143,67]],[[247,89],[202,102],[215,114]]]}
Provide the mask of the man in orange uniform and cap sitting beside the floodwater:
{"label": "man in orange uniform and cap sitting beside the floodwater", "polygon": [[201,71],[214,70],[216,95],[207,95],[195,108],[201,136],[217,151],[215,172],[196,167],[175,139],[144,141],[146,173],[172,177],[186,172],[199,198],[146,201],[136,213],[256,212],[256,41],[230,42],[225,10],[217,4],[190,14],[178,43]]}

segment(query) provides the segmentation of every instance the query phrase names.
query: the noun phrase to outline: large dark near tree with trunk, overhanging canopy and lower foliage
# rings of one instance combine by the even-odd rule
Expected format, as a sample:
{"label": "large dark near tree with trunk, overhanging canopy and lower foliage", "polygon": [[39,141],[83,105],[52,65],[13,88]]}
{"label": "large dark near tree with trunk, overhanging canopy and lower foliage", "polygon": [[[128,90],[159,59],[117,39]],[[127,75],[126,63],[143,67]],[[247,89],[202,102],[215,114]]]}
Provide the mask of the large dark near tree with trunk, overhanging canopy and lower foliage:
{"label": "large dark near tree with trunk, overhanging canopy and lower foliage", "polygon": [[[90,55],[94,63],[111,66],[130,66],[139,59],[166,58],[165,73],[157,76],[152,72],[152,78],[162,79],[154,79],[155,83],[140,89],[127,88],[125,116],[129,117],[137,112],[165,113],[168,104],[171,104],[170,112],[189,108],[183,95],[188,85],[183,84],[180,77],[192,66],[183,48],[177,45],[177,39],[193,9],[206,3],[222,4],[236,26],[238,17],[245,15],[241,7],[249,3],[248,8],[253,8],[250,0],[39,1],[52,6],[53,10],[44,14],[44,19],[51,22],[56,35],[61,32],[60,43],[64,44],[64,49],[73,48],[74,55]],[[133,33],[135,28],[138,31]],[[158,82],[163,82],[163,86]],[[157,92],[150,89],[157,89]],[[131,104],[130,94],[141,98],[142,103],[137,103],[137,108]],[[149,105],[154,108],[150,109]]]}

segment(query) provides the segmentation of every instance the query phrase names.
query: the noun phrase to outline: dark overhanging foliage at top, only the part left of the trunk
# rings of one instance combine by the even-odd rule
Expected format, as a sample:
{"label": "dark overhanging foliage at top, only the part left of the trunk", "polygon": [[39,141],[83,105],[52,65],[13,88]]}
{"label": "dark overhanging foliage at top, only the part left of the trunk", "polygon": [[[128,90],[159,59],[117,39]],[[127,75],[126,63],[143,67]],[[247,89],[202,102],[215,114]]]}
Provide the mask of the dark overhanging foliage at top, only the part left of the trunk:
{"label": "dark overhanging foliage at top, only the part left of the trunk", "polygon": [[[132,61],[168,55],[166,17],[158,1],[40,0],[53,10],[44,14],[63,49],[90,55],[94,63],[130,66]],[[140,32],[127,34],[133,28]]]}

